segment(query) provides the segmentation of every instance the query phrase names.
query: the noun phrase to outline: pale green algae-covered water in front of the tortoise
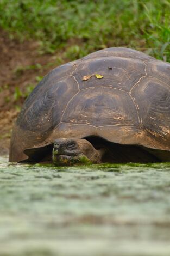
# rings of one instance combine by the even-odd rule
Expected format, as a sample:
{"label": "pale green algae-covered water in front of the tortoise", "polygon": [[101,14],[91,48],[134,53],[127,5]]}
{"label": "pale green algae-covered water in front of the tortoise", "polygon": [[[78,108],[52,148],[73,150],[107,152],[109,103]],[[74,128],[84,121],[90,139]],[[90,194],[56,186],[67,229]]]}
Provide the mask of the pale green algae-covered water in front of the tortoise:
{"label": "pale green algae-covered water in front of the tortoise", "polygon": [[170,163],[0,158],[0,255],[170,255]]}

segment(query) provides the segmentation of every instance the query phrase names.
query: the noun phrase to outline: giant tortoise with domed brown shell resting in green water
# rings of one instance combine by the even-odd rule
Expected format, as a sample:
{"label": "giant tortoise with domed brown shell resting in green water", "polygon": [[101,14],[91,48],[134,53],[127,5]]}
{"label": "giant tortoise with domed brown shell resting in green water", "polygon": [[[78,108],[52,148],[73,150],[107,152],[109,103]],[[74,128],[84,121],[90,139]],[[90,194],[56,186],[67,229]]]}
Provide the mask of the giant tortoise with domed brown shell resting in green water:
{"label": "giant tortoise with domed brown shell resting in green water", "polygon": [[170,160],[170,64],[106,48],[47,74],[24,102],[10,162]]}

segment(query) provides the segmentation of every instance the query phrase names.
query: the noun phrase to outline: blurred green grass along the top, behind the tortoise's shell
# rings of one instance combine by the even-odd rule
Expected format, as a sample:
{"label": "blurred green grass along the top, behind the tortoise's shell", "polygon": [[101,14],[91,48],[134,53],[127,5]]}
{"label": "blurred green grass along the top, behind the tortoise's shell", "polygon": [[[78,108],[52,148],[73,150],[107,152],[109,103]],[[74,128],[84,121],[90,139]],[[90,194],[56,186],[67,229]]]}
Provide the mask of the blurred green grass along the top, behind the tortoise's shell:
{"label": "blurred green grass along the top, behind the tortoise's shell", "polygon": [[1,0],[0,26],[41,52],[77,59],[105,47],[131,47],[170,62],[169,0]]}

